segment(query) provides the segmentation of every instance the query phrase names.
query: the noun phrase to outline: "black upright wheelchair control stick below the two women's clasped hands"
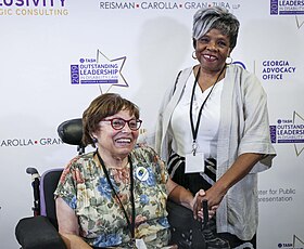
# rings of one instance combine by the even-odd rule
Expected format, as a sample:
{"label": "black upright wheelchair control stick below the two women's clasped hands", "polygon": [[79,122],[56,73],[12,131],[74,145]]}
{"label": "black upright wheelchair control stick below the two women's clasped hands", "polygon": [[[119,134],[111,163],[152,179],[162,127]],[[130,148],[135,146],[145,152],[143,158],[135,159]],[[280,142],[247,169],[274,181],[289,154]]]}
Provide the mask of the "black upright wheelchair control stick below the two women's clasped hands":
{"label": "black upright wheelchair control stick below the two women's clasped hands", "polygon": [[208,220],[208,204],[207,200],[203,200],[203,235],[205,237],[206,249],[230,249],[229,243],[216,237],[210,227]]}

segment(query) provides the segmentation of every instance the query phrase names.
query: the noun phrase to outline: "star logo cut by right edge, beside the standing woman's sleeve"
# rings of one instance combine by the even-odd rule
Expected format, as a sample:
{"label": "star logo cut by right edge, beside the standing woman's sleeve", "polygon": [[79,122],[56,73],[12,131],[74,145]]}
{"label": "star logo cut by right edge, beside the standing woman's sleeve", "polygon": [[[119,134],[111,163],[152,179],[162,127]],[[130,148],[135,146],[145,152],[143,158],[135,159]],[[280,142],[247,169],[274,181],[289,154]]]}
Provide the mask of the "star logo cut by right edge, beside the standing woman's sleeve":
{"label": "star logo cut by right edge, beside the standing woman's sleeve", "polygon": [[292,119],[278,119],[277,126],[270,126],[273,143],[290,143],[294,145],[296,156],[304,150],[304,118],[293,112]]}

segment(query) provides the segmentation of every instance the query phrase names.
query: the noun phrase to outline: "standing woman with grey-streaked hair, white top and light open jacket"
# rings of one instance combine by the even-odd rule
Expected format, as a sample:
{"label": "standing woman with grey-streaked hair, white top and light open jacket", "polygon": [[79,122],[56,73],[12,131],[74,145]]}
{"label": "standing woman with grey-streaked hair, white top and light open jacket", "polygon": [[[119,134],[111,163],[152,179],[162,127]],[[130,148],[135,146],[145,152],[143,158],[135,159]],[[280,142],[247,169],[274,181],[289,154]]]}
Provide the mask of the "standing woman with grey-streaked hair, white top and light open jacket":
{"label": "standing woman with grey-streaked hair, white top and light open jacket", "polygon": [[199,64],[181,70],[167,91],[155,147],[176,183],[205,189],[208,207],[218,206],[217,235],[231,248],[256,248],[257,173],[276,153],[266,93],[253,74],[231,64],[239,25],[217,6],[194,14]]}

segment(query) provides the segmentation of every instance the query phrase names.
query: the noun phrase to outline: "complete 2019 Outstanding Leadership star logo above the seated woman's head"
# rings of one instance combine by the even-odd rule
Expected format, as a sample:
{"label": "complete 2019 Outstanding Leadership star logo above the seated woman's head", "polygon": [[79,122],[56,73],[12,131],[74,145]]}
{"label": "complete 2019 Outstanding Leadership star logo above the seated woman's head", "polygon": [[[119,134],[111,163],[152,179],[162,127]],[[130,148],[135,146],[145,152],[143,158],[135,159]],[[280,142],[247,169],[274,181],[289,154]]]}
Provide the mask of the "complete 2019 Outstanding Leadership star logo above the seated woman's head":
{"label": "complete 2019 Outstanding Leadership star logo above the seated woman's head", "polygon": [[126,56],[110,60],[98,50],[96,58],[80,58],[79,64],[71,65],[71,83],[128,87],[122,75],[125,61]]}

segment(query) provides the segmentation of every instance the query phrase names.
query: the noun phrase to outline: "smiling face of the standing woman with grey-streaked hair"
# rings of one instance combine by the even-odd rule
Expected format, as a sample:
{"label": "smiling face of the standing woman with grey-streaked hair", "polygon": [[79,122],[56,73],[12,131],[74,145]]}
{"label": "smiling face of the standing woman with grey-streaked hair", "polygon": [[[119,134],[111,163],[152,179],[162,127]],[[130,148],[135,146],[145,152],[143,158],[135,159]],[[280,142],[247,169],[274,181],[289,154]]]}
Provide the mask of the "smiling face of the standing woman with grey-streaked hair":
{"label": "smiling face of the standing woman with grey-streaked hair", "polygon": [[195,42],[195,56],[205,73],[220,71],[230,52],[229,37],[215,28]]}

